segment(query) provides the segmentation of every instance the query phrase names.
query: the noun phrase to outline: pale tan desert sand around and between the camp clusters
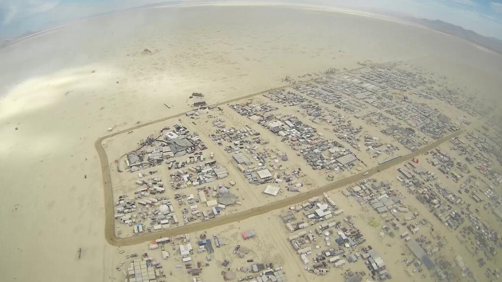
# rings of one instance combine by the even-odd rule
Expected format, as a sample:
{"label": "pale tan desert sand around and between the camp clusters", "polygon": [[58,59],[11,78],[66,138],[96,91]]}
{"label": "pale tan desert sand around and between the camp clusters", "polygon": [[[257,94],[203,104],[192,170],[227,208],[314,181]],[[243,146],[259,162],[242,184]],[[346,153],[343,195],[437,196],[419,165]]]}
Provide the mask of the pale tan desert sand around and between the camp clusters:
{"label": "pale tan desert sand around and between the camp clusters", "polygon": [[[315,127],[317,132],[323,132],[324,138],[340,140],[342,137],[338,137],[337,133],[341,132],[342,127],[334,130],[329,127],[331,124],[321,117],[314,118],[306,114],[304,108],[281,104],[262,94],[238,100],[239,97],[262,91],[267,93],[266,90],[278,87],[284,87],[284,93],[292,91],[307,97],[307,92],[302,94],[289,84],[302,85],[302,82],[307,83],[307,80],[320,83],[321,80],[315,79],[324,77],[325,71],[329,69],[336,70],[334,75],[340,73],[342,76],[342,73],[351,75],[356,69],[364,70],[372,66],[378,69],[381,65],[396,64],[396,68],[419,73],[427,83],[434,85],[431,86],[434,89],[454,90],[457,101],[469,101],[476,112],[457,107],[455,102],[427,100],[413,93],[418,93],[427,86],[420,88],[420,91],[411,88],[407,91],[396,91],[400,93],[394,96],[393,101],[396,104],[393,108],[404,107],[405,103],[401,99],[406,100],[403,96],[408,95],[411,100],[435,108],[437,112],[451,118],[454,126],[465,130],[459,138],[465,143],[470,142],[471,148],[477,147],[476,139],[471,138],[468,135],[470,133],[481,135],[479,140],[490,140],[490,144],[494,146],[493,152],[501,152],[498,137],[502,135],[499,123],[502,121],[499,113],[502,104],[499,95],[499,89],[502,88],[502,57],[463,39],[416,24],[391,21],[386,17],[289,6],[221,4],[153,7],[79,20],[6,45],[0,48],[0,58],[0,135],[3,136],[0,138],[0,159],[3,160],[0,163],[0,179],[4,190],[4,197],[0,200],[4,224],[0,231],[4,251],[0,258],[0,269],[3,270],[5,281],[123,281],[127,277],[123,272],[128,270],[133,260],[126,258],[126,255],[138,253],[140,256],[137,258],[143,259],[145,252],[162,264],[166,277],[159,276],[157,281],[188,281],[193,278],[187,273],[185,262],[182,262],[178,245],[183,243],[183,239],[175,240],[175,235],[180,235],[175,230],[172,232],[176,234],[171,238],[176,244],[166,244],[166,250],[169,249],[171,253],[168,259],[162,259],[159,249],[149,250],[149,245],[152,244],[150,237],[143,240],[141,236],[144,235],[133,235],[133,228],[120,223],[120,220],[110,219],[115,226],[114,235],[117,235],[117,230],[122,230],[123,237],[127,237],[126,234],[134,236],[135,243],[117,246],[109,244],[109,238],[105,237],[107,192],[104,191],[106,186],[103,184],[102,156],[98,155],[95,142],[113,132],[126,129],[128,132],[134,131],[112,136],[101,143],[107,156],[107,163],[104,164],[109,167],[109,185],[113,191],[110,195],[113,198],[108,200],[112,201],[112,204],[118,201],[118,196],[122,194],[128,194],[129,198],[133,199],[138,188],[134,184],[138,180],[138,172],[118,173],[114,160],[119,160],[124,154],[136,149],[141,139],[150,134],[159,134],[164,126],[174,128],[175,124],[182,124],[189,131],[198,132],[208,148],[202,151],[202,154],[209,156],[209,152],[214,152],[218,166],[225,166],[229,172],[228,178],[207,184],[211,187],[209,190],[212,191],[212,187],[218,183],[235,181],[237,185],[232,186],[230,190],[235,191],[241,202],[241,205],[222,210],[214,219],[215,222],[218,218],[232,213],[288,199],[298,195],[298,192],[287,191],[286,186],[275,184],[282,190],[281,194],[274,198],[262,193],[267,187],[266,184],[256,187],[250,184],[232,161],[232,155],[226,154],[224,147],[218,146],[217,141],[209,137],[216,134],[217,127],[204,123],[205,120],[212,122],[219,118],[226,122],[225,129],[232,126],[245,128],[248,125],[259,132],[260,136],[270,141],[268,145],[257,145],[265,148],[264,152],[270,156],[275,156],[270,157],[270,162],[273,158],[280,158],[281,154],[287,154],[289,161],[284,167],[301,168],[302,178],[299,182],[302,182],[304,187],[299,193],[315,191],[332,181],[342,180],[356,173],[362,174],[391,157],[384,154],[378,159],[372,158],[363,147],[364,134],[379,136],[385,144],[392,144],[401,150],[392,156],[412,152],[391,135],[382,133],[382,129],[385,129],[383,125],[369,125],[367,119],[354,117],[357,113],[346,112],[317,99],[315,102],[320,103],[319,107],[323,110],[330,108],[331,111],[343,115],[344,119],[351,119],[354,127],[364,128],[359,135],[362,140],[358,141],[361,144],[360,150],[343,143],[345,140],[340,142],[350,149],[359,161],[363,160],[367,167],[359,164],[356,167],[361,170],[356,171],[354,167],[340,174],[314,170],[305,162],[303,156],[297,155],[292,146],[281,142],[281,137],[271,133],[266,125],[260,125],[237,114],[231,107],[234,104],[269,103],[277,108],[276,116],[298,116],[304,124]],[[285,80],[286,77],[294,81]],[[189,98],[193,92],[203,93],[207,105],[218,104],[221,110],[204,108],[199,110],[195,118],[185,115],[185,112],[193,110],[193,98]],[[391,90],[389,95],[394,95]],[[227,103],[227,100],[233,101]],[[365,106],[361,108],[363,107]],[[375,109],[373,105],[368,107]],[[178,114],[179,117],[160,123],[130,129]],[[396,123],[401,122],[399,118],[395,120]],[[462,123],[460,120],[469,122]],[[482,126],[489,129],[480,129]],[[329,130],[323,129],[324,127],[329,127]],[[477,129],[481,131],[476,131]],[[448,134],[452,132],[453,130]],[[429,135],[417,135],[420,135],[419,139],[424,146],[434,141]],[[451,138],[454,139],[453,136]],[[450,147],[455,146],[448,140],[438,144],[437,148],[449,152],[450,156],[456,156],[458,161],[465,163],[465,154],[458,155],[459,153]],[[463,173],[465,177],[458,184],[453,183],[450,177],[446,178],[426,161],[426,158],[433,159],[431,155],[420,155],[417,158],[428,171],[439,174],[442,183],[448,186],[452,193],[464,197],[463,203],[472,202],[472,207],[481,210],[475,216],[480,217],[483,222],[489,222],[490,228],[499,232],[500,219],[496,219],[492,209],[499,201],[500,182],[493,184],[493,180],[488,179],[487,174],[480,173],[476,167],[489,168],[495,179],[502,176],[497,154],[481,153],[485,158],[482,164],[469,164],[470,174],[475,175],[477,182],[481,183],[476,189],[489,189],[490,193],[496,195],[493,199],[485,196],[486,199],[481,203],[474,203],[468,193],[456,192],[468,173]],[[120,160],[125,162],[123,158]],[[394,192],[404,196],[409,209],[420,214],[420,220],[428,222],[430,226],[421,227],[420,233],[415,235],[417,238],[422,233],[428,234],[431,226],[434,226],[434,232],[440,233],[438,236],[443,238],[442,242],[447,245],[438,253],[434,253],[434,256],[431,254],[431,257],[437,261],[451,261],[451,265],[445,269],[452,280],[473,280],[472,276],[463,277],[463,270],[454,265],[457,254],[461,255],[472,270],[469,273],[474,273],[472,275],[479,280],[485,280],[486,268],[497,271],[500,254],[486,260],[486,265],[479,266],[476,259],[483,256],[481,247],[466,249],[463,244],[467,243],[460,242],[455,235],[462,227],[470,224],[469,220],[465,219],[464,225],[457,230],[446,227],[429,211],[429,207],[422,205],[415,194],[410,194],[408,189],[396,180],[399,175],[396,170],[409,161],[401,160],[395,167],[386,168],[380,173],[374,171],[377,174],[371,177],[379,182],[391,181]],[[142,172],[148,174],[150,170],[153,169]],[[170,180],[170,175],[174,172],[169,171],[165,163],[155,170],[159,170],[159,176],[162,176],[167,190],[162,197],[170,198],[181,221],[181,210],[184,206],[174,204],[174,193],[195,194],[197,197],[196,188],[186,188],[193,189],[192,192],[174,190],[170,186],[170,181],[174,181]],[[328,179],[328,176],[331,176],[331,179]],[[341,191],[350,190],[354,185],[346,184],[328,193],[340,209],[344,210],[338,220],[344,222],[343,217],[353,216],[355,225],[367,239],[363,245],[367,246],[369,243],[382,255],[388,265],[387,269],[392,274],[392,280],[439,280],[438,275],[431,276],[433,271],[428,272],[425,267],[424,272],[409,276],[406,272],[408,266],[403,260],[413,258],[413,255],[406,248],[406,242],[399,236],[382,237],[382,226],[373,227],[368,223],[375,218],[384,222],[385,218],[370,205],[362,205],[354,197],[345,197],[342,194]],[[446,200],[443,199],[443,202]],[[202,207],[202,204],[199,203],[199,206]],[[149,211],[153,212],[156,208],[158,207],[153,205]],[[112,206],[111,209],[116,214],[116,207]],[[144,210],[146,209],[145,207]],[[458,210],[460,209],[459,206]],[[216,233],[218,237],[224,237],[227,244],[215,248],[213,259],[208,262],[208,266],[205,266],[208,253],[194,252],[194,268],[197,261],[204,262],[197,277],[203,281],[223,280],[221,271],[231,272],[221,265],[225,259],[231,260],[231,266],[228,267],[234,270],[241,266],[250,267],[253,262],[248,263],[246,259],[254,258],[254,263],[273,262],[274,268],[283,267],[281,271],[284,271],[289,281],[327,281],[332,277],[347,274],[348,269],[365,271],[364,279],[373,279],[362,259],[340,268],[330,266],[328,275],[316,275],[305,270],[305,266],[313,267],[312,259],[315,255],[310,255],[311,263],[304,265],[300,255],[288,241],[288,237],[293,233],[284,227],[279,217],[288,210],[288,207],[278,206],[278,209],[270,212],[238,218],[239,220],[224,222],[225,224],[211,226],[212,219],[209,219],[205,221],[207,227],[204,226],[202,230],[193,227],[193,230],[197,231],[189,233],[194,246],[203,232],[207,233],[208,238],[212,238],[211,234]],[[302,214],[303,211],[296,213],[297,218],[300,219]],[[387,216],[392,220],[397,217],[390,212]],[[308,222],[306,218],[304,221]],[[145,225],[149,224],[147,222],[148,220],[144,220]],[[200,222],[202,220],[199,218],[190,224]],[[318,224],[311,223],[311,227],[314,228]],[[174,224],[171,225],[174,228]],[[180,226],[182,225],[181,223]],[[406,226],[402,226],[399,233],[408,230],[405,228]],[[257,237],[244,242],[241,233],[248,229],[254,229]],[[430,231],[431,234],[432,232]],[[155,234],[153,230],[145,236],[156,236],[152,234]],[[336,238],[333,235],[332,247],[337,245],[334,239]],[[494,239],[497,249],[500,246],[499,240]],[[232,253],[237,244],[247,245],[252,249],[251,253],[246,254],[245,258],[239,258]],[[319,250],[314,249],[312,253],[327,248],[324,245],[324,235],[318,236],[312,247],[316,244],[321,247]],[[353,250],[362,254],[359,249],[363,245]],[[347,249],[352,251],[352,248]],[[451,252],[450,249],[458,249],[458,253]],[[120,252],[121,250],[125,253]],[[402,253],[406,253],[406,256]],[[117,266],[122,262],[125,264],[117,271]],[[182,268],[177,268],[177,265],[182,265]],[[439,266],[436,269],[439,269]],[[237,278],[254,275],[239,271]],[[427,275],[422,279],[420,276],[423,273]],[[499,279],[495,274],[490,275],[490,279]]]}

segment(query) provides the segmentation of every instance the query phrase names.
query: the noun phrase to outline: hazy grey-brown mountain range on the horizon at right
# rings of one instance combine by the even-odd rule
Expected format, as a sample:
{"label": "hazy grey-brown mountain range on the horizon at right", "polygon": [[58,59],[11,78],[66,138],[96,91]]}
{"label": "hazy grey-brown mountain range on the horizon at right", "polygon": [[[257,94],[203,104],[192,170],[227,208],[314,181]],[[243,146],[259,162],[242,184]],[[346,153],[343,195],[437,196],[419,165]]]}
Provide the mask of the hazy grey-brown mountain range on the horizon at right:
{"label": "hazy grey-brown mountain range on the horizon at right", "polygon": [[416,18],[408,18],[407,20],[417,23],[421,26],[430,28],[432,30],[460,37],[462,39],[465,39],[469,42],[472,42],[474,44],[477,44],[488,50],[491,50],[493,52],[502,55],[502,40],[500,39],[494,37],[482,36],[471,30],[466,30],[460,26],[448,24],[440,20],[431,21],[427,19],[416,19]]}

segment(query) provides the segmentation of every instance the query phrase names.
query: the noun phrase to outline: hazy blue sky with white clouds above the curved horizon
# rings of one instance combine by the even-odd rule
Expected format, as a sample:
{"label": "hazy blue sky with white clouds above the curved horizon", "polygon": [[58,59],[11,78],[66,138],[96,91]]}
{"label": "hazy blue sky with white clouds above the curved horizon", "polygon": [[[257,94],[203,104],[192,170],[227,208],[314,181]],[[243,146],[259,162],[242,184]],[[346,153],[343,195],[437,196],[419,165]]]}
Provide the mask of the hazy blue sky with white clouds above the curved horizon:
{"label": "hazy blue sky with white clouds above the curved horizon", "polygon": [[[162,0],[0,0],[0,39],[40,31],[65,21]],[[172,2],[194,2],[179,0]],[[200,0],[198,2],[201,2]],[[215,2],[207,0],[206,2]],[[219,2],[240,2],[223,0]],[[254,2],[248,0],[246,2]],[[259,1],[257,1],[259,2]],[[262,2],[265,2],[262,0]],[[442,20],[502,39],[502,0],[274,0]]]}

